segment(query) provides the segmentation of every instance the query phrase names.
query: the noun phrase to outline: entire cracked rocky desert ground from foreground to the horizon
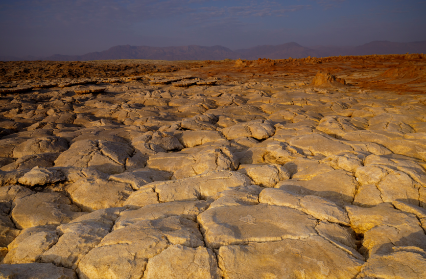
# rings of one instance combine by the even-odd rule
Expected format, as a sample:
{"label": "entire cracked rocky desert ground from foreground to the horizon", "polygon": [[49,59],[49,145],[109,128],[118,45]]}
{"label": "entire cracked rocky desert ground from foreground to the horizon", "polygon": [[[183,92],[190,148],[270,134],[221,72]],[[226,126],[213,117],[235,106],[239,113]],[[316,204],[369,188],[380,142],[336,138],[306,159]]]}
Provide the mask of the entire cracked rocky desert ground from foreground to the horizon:
{"label": "entire cracked rocky desert ground from foreground to the horizon", "polygon": [[425,65],[2,62],[0,278],[426,278]]}

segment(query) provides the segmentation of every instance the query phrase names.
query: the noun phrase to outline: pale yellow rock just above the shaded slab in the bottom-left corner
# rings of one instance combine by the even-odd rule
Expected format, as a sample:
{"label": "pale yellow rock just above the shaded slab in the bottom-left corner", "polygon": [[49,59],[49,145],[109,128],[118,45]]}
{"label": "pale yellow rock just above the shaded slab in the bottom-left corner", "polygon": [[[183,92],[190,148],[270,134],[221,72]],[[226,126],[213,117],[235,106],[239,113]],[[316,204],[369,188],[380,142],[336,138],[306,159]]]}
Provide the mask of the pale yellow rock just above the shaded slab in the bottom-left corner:
{"label": "pale yellow rock just above the shaded slab in the bottom-left corner", "polygon": [[24,229],[7,247],[9,253],[3,263],[29,263],[40,259],[58,241],[54,227],[33,227]]}

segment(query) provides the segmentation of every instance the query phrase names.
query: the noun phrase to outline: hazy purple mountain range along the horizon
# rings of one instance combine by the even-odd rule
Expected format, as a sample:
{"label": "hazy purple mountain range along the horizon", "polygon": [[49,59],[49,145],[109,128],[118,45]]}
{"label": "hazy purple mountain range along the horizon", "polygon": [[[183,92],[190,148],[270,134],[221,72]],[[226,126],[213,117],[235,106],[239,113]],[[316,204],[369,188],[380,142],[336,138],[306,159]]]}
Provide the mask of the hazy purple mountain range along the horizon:
{"label": "hazy purple mountain range along the horizon", "polygon": [[255,46],[246,49],[231,50],[224,46],[113,46],[100,52],[84,55],[60,55],[48,57],[13,57],[0,56],[0,61],[51,60],[51,61],[89,61],[115,59],[153,59],[153,60],[223,60],[258,58],[287,59],[304,57],[327,57],[339,55],[372,55],[372,54],[404,54],[426,53],[426,41],[411,43],[395,43],[389,41],[373,41],[362,46],[312,46],[305,47],[297,43],[278,46]]}

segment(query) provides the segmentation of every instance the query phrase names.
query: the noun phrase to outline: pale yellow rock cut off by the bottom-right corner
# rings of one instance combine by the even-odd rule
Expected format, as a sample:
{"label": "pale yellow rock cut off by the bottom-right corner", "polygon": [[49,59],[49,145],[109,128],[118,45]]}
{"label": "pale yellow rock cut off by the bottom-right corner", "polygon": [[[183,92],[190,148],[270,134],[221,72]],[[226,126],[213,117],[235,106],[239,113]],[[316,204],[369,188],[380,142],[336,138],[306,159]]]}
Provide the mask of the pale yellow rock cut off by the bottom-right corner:
{"label": "pale yellow rock cut off by the bottom-right corner", "polygon": [[357,279],[422,279],[426,278],[426,259],[417,253],[396,252],[367,260]]}

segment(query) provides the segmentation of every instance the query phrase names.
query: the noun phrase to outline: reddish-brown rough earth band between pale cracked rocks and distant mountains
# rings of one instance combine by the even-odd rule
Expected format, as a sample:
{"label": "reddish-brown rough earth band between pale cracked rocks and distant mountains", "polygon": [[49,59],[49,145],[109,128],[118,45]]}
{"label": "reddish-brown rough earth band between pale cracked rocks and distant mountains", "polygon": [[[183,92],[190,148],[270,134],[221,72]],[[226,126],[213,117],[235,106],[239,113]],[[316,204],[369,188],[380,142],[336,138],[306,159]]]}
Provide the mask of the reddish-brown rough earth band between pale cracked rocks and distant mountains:
{"label": "reddish-brown rough earth band between pale cracked rocks and distant mountains", "polygon": [[[423,54],[338,56],[285,60],[223,61],[18,61],[0,62],[0,86],[14,86],[16,81],[129,77],[150,73],[189,70],[203,77],[217,76],[224,80],[250,79],[269,81],[310,79],[319,70],[342,76],[349,84],[365,89],[384,89],[397,93],[424,93],[426,60]],[[360,69],[363,69],[360,71]],[[363,72],[361,75],[357,72]],[[15,83],[13,83],[15,82]],[[10,85],[8,84],[10,83]],[[21,83],[22,84],[22,83]]]}

